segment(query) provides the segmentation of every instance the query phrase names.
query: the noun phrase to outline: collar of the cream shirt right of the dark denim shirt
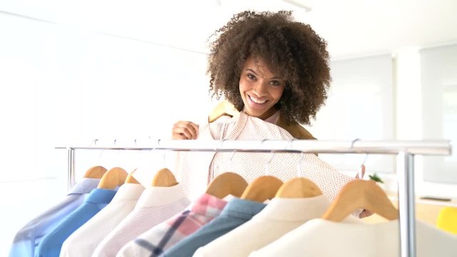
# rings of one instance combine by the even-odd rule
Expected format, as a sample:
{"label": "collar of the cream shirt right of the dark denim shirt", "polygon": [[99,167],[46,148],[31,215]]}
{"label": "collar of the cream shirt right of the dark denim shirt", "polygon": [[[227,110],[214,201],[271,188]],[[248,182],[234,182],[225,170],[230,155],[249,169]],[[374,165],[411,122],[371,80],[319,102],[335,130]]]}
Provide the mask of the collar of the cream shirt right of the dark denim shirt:
{"label": "collar of the cream shirt right of the dark denim shirt", "polygon": [[254,218],[267,221],[308,221],[319,218],[330,206],[326,196],[273,198]]}

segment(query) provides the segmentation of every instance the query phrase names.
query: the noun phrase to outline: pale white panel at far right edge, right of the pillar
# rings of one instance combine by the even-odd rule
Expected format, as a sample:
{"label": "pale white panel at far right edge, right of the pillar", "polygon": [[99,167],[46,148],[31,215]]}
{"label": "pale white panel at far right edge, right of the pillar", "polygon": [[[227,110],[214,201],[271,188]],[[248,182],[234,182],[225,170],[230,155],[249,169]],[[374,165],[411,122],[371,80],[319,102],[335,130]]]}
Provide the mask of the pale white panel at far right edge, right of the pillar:
{"label": "pale white panel at far right edge, right of the pillar", "polygon": [[[457,45],[421,50],[423,138],[457,142]],[[457,183],[457,154],[424,159],[427,181]]]}

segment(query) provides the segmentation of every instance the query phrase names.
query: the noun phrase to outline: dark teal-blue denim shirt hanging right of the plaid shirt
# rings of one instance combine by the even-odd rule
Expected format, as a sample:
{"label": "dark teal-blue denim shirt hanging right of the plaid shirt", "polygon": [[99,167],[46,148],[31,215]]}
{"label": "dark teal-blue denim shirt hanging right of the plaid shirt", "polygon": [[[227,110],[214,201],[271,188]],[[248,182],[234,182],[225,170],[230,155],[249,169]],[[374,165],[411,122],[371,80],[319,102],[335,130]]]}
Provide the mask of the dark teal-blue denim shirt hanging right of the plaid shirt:
{"label": "dark teal-blue denim shirt hanging right of the plaid shirt", "polygon": [[176,245],[169,248],[169,250],[165,251],[165,253],[162,253],[160,256],[193,256],[198,248],[219,238],[219,236],[222,236],[225,233],[229,233],[241,224],[246,223],[246,221],[249,221],[265,206],[264,203],[233,198],[227,203],[220,216],[214,218],[214,220],[210,221],[187,238],[184,238],[179,243],[176,243]]}

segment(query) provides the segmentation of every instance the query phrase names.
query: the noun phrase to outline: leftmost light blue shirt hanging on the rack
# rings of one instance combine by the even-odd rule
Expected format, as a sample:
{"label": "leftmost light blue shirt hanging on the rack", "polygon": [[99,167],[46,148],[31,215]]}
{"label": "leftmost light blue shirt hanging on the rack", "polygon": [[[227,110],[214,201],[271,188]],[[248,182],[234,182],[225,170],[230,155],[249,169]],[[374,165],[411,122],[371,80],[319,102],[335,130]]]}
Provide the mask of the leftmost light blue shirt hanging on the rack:
{"label": "leftmost light blue shirt hanging on the rack", "polygon": [[76,186],[46,212],[37,216],[16,233],[9,257],[33,257],[36,247],[47,233],[84,202],[84,197],[97,187],[100,179],[83,178]]}

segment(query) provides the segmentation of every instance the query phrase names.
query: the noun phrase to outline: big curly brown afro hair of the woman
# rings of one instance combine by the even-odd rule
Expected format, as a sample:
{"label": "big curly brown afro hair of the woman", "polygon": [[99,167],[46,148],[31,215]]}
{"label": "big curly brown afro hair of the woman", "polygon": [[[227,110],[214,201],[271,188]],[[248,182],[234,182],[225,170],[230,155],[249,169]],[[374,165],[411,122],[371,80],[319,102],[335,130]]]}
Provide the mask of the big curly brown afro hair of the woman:
{"label": "big curly brown afro hair of the woman", "polygon": [[243,11],[210,36],[209,91],[243,109],[239,79],[246,59],[261,58],[286,81],[276,108],[289,123],[310,124],[327,99],[331,76],[326,41],[291,11]]}

